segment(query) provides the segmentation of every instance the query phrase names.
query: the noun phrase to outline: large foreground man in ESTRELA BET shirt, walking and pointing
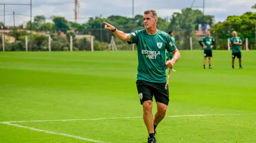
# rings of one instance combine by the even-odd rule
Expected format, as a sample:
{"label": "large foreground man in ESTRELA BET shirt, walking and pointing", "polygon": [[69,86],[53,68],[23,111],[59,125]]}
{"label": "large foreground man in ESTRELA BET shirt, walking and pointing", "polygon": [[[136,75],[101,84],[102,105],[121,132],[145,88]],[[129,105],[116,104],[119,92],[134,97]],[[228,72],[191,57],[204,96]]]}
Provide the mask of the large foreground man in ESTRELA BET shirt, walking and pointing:
{"label": "large foreground man in ESTRELA BET shirt, walking and pointing", "polygon": [[[156,143],[155,129],[165,118],[169,103],[169,88],[165,89],[167,82],[165,66],[171,68],[180,58],[179,50],[171,37],[156,28],[157,13],[155,10],[144,11],[145,29],[124,33],[104,22],[105,29],[111,30],[116,37],[129,44],[137,45],[137,91],[143,106],[143,120],[148,131],[148,143]],[[165,50],[173,53],[173,58],[165,62]],[[152,114],[153,96],[157,102],[155,118]]]}

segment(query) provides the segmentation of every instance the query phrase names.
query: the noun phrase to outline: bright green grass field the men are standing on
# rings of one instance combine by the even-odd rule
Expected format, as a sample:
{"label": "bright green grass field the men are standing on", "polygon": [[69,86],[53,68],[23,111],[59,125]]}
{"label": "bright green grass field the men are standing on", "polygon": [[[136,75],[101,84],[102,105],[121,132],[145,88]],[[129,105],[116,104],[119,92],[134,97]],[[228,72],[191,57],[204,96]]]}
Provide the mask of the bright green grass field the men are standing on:
{"label": "bright green grass field the men are standing on", "polygon": [[[256,51],[180,52],[158,142],[256,142]],[[135,51],[0,53],[0,142],[146,142],[136,73]]]}

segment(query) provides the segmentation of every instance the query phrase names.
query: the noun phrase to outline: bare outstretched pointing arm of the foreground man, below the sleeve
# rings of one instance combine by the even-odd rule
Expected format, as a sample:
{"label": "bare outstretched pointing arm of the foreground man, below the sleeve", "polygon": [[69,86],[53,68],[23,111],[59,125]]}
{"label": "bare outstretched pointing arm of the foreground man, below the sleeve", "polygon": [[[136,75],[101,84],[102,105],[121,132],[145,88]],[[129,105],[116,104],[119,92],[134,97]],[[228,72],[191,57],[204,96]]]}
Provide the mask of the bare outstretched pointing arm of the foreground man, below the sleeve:
{"label": "bare outstretched pointing arm of the foreground man, below the sleeve", "polygon": [[105,24],[105,29],[110,30],[114,33],[114,35],[119,38],[122,41],[127,41],[127,42],[131,42],[131,35],[124,33],[123,31],[118,30],[117,28],[115,28],[114,26],[112,26],[111,24],[104,22]]}

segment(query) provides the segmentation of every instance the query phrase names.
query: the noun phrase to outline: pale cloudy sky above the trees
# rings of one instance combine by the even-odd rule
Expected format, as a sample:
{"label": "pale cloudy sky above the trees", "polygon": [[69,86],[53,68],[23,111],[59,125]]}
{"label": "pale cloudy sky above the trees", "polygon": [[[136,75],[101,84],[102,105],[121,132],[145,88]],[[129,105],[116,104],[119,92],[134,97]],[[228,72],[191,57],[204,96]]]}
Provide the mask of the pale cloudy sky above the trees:
{"label": "pale cloudy sky above the trees", "polygon": [[[32,17],[44,15],[51,21],[53,15],[63,16],[74,21],[75,0],[32,0]],[[134,16],[143,15],[144,10],[155,9],[159,17],[171,17],[173,12],[191,7],[194,0],[134,0]],[[1,0],[0,4],[30,4],[30,0]],[[214,15],[215,22],[224,21],[229,15],[242,15],[247,11],[255,11],[251,6],[255,0],[205,0],[205,15]],[[132,17],[132,0],[80,0],[79,23],[86,22],[89,17],[120,15]],[[203,0],[195,0],[194,6],[203,6]],[[193,8],[196,9],[196,8]],[[197,8],[203,9],[203,8]],[[13,25],[30,20],[30,6],[5,6],[5,25]],[[4,21],[4,5],[0,5],[0,21]]]}

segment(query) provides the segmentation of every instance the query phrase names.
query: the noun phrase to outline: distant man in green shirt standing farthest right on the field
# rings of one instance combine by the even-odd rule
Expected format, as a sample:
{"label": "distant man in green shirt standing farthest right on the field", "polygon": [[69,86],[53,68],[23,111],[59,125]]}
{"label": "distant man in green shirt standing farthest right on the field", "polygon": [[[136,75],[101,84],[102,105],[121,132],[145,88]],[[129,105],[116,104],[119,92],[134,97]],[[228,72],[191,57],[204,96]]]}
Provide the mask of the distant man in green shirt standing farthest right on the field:
{"label": "distant man in green shirt standing farthest right on the field", "polygon": [[242,69],[242,55],[240,50],[240,45],[242,45],[242,40],[237,36],[237,32],[232,32],[233,37],[230,39],[230,46],[232,47],[232,68],[234,69],[235,58],[239,59],[239,68]]}

